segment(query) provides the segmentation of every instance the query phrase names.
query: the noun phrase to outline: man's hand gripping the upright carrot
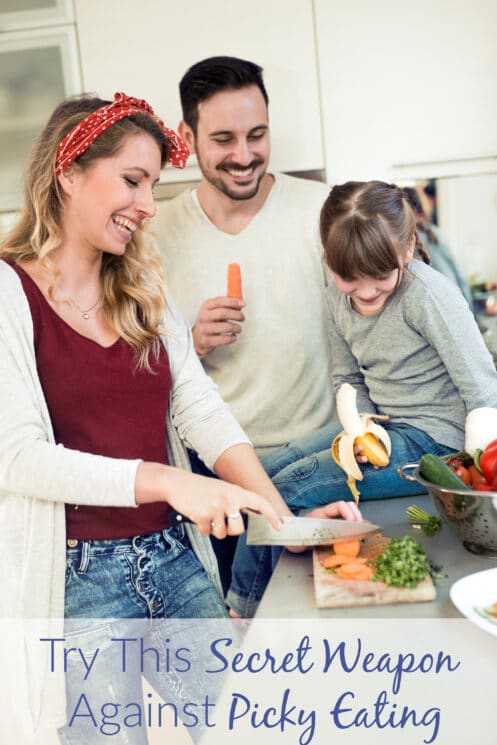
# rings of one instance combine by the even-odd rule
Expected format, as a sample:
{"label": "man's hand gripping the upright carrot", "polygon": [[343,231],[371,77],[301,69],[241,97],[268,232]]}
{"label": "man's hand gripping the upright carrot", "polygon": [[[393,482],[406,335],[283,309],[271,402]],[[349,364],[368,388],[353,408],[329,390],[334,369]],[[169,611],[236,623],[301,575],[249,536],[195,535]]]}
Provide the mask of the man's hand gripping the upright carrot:
{"label": "man's hand gripping the upright carrot", "polygon": [[[232,297],[214,297],[200,306],[200,311],[192,329],[195,351],[205,357],[216,347],[233,344],[245,320],[243,300]],[[238,322],[238,323],[237,323]]]}

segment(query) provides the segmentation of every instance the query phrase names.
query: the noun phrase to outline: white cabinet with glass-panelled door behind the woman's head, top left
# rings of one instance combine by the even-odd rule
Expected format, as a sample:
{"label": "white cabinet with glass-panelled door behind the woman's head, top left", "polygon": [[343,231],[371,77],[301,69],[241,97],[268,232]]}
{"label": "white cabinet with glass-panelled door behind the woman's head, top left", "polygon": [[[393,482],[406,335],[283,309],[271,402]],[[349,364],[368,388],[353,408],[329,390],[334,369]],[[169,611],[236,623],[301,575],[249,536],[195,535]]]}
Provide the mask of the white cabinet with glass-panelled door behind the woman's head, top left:
{"label": "white cabinet with glass-panelled door behind the woman's head, top left", "polygon": [[81,77],[68,0],[2,0],[0,7],[0,213],[6,213],[21,206],[35,137],[55,106],[81,90]]}

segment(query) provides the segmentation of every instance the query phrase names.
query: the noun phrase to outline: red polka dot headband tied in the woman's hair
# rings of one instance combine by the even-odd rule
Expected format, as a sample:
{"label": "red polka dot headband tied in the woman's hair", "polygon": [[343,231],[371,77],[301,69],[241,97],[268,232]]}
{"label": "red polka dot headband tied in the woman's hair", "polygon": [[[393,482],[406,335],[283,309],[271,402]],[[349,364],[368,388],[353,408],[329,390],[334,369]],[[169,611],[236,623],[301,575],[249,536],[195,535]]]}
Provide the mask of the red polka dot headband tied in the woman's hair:
{"label": "red polka dot headband tied in the woman's hair", "polygon": [[88,114],[64,137],[57,148],[57,162],[55,164],[57,175],[60,176],[112,124],[119,119],[124,119],[125,116],[131,116],[131,114],[138,112],[148,114],[166,135],[169,143],[167,162],[175,168],[184,168],[190,151],[181,137],[165,126],[146,101],[127,96],[125,93],[116,93],[112,103]]}

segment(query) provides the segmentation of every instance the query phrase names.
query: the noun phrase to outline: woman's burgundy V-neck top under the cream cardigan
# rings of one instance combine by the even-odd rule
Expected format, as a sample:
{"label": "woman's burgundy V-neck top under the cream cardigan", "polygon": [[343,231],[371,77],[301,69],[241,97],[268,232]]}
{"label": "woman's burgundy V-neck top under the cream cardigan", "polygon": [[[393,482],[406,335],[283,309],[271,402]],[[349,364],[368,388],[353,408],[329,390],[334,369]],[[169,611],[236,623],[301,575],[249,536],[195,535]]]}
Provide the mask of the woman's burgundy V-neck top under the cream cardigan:
{"label": "woman's burgundy V-neck top under the cream cardigan", "polygon": [[[166,463],[171,371],[164,346],[152,358],[154,374],[137,369],[134,350],[123,339],[110,347],[87,339],[57,315],[21,267],[13,268],[31,309],[36,364],[55,441],[96,455]],[[167,505],[67,504],[66,525],[68,538],[146,535],[168,526]]]}

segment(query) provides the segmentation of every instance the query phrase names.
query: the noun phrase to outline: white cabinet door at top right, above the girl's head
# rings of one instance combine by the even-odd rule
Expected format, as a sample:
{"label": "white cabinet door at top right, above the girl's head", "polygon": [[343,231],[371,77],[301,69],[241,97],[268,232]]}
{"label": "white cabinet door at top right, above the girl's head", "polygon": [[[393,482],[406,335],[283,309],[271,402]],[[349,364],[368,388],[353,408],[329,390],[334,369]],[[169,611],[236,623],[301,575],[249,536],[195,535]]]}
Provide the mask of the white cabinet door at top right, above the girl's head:
{"label": "white cabinet door at top right, above the girl's head", "polygon": [[314,5],[330,183],[497,154],[495,0]]}

